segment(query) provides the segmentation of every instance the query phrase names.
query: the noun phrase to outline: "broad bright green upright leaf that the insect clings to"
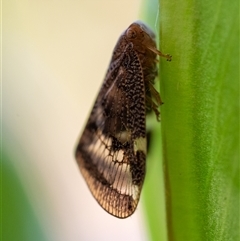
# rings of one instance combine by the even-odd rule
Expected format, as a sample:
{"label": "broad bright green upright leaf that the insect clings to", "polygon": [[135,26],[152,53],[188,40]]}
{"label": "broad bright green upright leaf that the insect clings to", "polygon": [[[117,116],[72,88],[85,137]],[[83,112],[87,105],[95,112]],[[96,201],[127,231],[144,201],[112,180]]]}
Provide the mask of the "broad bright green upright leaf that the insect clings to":
{"label": "broad bright green upright leaf that the insect clings to", "polygon": [[[173,59],[160,62],[162,134],[155,133],[144,186],[152,240],[239,240],[239,3],[159,6],[160,50]],[[153,180],[160,147],[164,171],[154,170]],[[166,200],[166,224],[155,195]]]}

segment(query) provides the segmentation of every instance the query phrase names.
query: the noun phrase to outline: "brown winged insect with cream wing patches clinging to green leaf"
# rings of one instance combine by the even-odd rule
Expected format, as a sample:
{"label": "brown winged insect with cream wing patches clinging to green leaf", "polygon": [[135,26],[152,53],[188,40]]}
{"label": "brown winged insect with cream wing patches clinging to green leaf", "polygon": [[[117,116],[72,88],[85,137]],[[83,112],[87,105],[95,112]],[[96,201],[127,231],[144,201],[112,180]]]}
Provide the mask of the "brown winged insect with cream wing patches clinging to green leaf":
{"label": "brown winged insect with cream wing patches clinging to green leaf", "polygon": [[146,112],[162,104],[154,33],[134,22],[120,36],[105,80],[76,149],[76,160],[97,202],[127,218],[135,211],[146,172]]}

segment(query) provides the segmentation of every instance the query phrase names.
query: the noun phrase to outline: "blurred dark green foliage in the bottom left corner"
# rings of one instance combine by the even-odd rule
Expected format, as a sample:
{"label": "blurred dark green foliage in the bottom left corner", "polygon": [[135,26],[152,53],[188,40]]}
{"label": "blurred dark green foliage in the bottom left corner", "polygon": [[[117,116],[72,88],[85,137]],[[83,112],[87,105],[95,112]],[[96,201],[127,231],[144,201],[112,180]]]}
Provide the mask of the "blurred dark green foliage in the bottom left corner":
{"label": "blurred dark green foliage in the bottom left corner", "polygon": [[31,207],[12,160],[2,155],[1,233],[4,241],[44,241],[46,237]]}

